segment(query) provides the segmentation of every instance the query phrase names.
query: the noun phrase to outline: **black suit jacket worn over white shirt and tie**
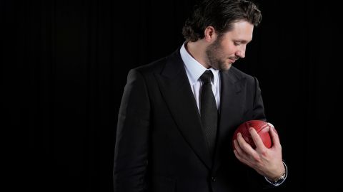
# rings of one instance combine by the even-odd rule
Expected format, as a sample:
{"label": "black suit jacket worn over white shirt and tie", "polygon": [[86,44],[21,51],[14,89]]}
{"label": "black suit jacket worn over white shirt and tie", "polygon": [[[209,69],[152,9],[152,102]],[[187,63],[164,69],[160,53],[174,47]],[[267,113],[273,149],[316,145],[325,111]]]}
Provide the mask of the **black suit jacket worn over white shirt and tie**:
{"label": "black suit jacket worn over white shirt and tie", "polygon": [[259,83],[234,67],[220,77],[212,159],[179,50],[130,70],[118,116],[114,191],[245,191],[263,181],[232,150],[239,124],[265,120]]}

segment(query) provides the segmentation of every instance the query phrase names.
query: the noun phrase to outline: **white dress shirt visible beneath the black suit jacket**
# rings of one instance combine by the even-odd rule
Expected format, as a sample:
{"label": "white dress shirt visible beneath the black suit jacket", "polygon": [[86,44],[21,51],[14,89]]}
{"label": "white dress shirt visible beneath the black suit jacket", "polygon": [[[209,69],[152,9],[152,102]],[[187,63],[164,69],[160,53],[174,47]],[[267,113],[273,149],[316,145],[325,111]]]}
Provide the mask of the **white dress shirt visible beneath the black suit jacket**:
{"label": "white dress shirt visible beneath the black suit jacket", "polygon": [[[197,60],[195,60],[192,55],[190,55],[186,48],[184,47],[184,44],[182,45],[182,48],[180,49],[181,58],[184,61],[184,68],[186,69],[187,77],[189,80],[189,84],[192,87],[192,92],[194,95],[194,98],[197,102],[198,110],[200,112],[200,90],[202,87],[202,81],[200,80],[200,76],[202,76],[202,73],[204,73],[207,68],[205,68],[202,64],[200,64]],[[216,99],[217,103],[217,109],[219,109],[220,104],[220,77],[219,77],[219,70],[216,70],[214,68],[209,68],[209,70],[212,70],[213,73],[213,79],[211,81],[212,85],[212,91],[214,98]]]}

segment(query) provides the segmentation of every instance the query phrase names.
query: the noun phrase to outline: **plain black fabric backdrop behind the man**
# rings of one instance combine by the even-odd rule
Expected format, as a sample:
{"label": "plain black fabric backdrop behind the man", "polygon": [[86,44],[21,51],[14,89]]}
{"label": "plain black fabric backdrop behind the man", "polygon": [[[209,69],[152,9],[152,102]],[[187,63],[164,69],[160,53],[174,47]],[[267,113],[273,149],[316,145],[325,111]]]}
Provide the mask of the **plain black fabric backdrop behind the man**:
{"label": "plain black fabric backdrop behind the man", "polygon": [[[181,46],[195,2],[0,1],[1,129],[13,191],[113,191],[126,75]],[[262,23],[234,65],[259,79],[281,137],[289,178],[279,191],[342,189],[333,176],[342,173],[339,9],[256,2]]]}

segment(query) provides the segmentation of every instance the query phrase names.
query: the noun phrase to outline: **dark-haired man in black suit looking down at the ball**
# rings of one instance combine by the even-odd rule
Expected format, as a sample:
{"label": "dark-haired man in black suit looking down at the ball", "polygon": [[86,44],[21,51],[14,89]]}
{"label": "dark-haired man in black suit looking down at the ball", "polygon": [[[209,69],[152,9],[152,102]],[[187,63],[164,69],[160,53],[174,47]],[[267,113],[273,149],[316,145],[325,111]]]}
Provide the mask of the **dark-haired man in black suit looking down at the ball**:
{"label": "dark-haired man in black suit looking down at the ball", "polygon": [[185,43],[172,55],[130,70],[119,110],[115,191],[246,191],[279,186],[287,177],[274,128],[267,149],[234,130],[266,121],[257,78],[232,67],[244,58],[257,6],[204,1],[186,21]]}

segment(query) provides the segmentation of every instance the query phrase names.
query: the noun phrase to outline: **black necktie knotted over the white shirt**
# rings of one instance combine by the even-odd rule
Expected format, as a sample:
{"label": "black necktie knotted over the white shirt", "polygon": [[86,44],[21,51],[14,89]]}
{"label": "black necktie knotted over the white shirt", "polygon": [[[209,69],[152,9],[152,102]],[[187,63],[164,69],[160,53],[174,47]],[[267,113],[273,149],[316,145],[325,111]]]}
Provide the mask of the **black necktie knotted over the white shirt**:
{"label": "black necktie knotted over the white shirt", "polygon": [[202,94],[200,113],[202,118],[202,127],[206,135],[207,143],[209,145],[209,152],[211,156],[214,152],[214,145],[216,143],[218,110],[216,100],[212,92],[211,79],[213,73],[211,70],[206,70],[200,80],[202,80]]}

